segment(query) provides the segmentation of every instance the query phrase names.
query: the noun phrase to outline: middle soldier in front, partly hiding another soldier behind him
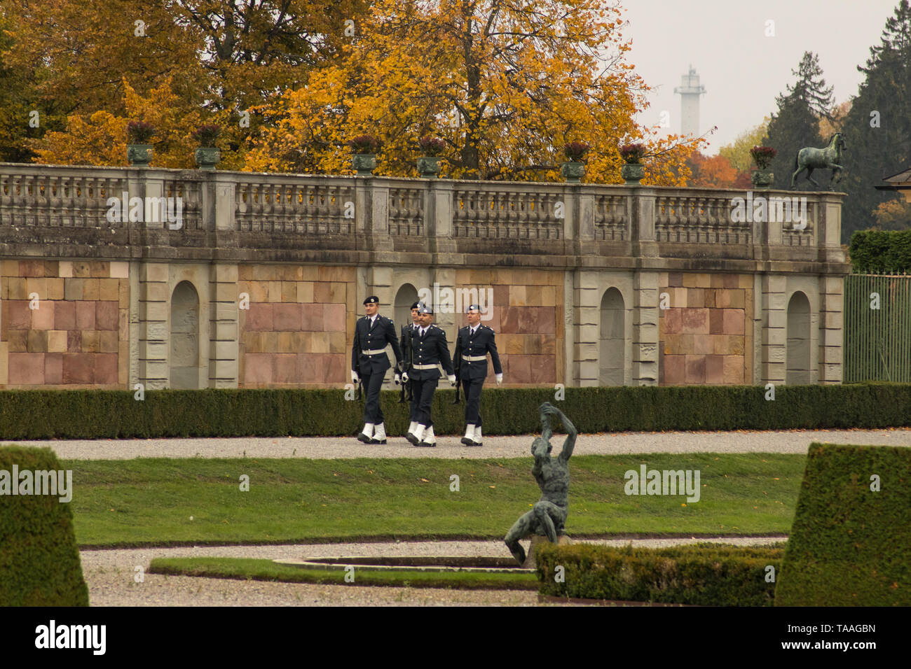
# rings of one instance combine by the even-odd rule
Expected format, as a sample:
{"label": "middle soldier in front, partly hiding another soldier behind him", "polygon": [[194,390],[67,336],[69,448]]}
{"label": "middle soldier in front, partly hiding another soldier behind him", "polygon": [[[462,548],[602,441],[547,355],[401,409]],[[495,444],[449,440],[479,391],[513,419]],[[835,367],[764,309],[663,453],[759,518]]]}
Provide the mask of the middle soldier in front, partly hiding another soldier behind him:
{"label": "middle soldier in front, partly hiding another soldier behind him", "polygon": [[420,309],[421,327],[412,336],[411,370],[402,375],[402,380],[411,380],[412,391],[417,399],[417,411],[412,418],[416,422],[415,430],[409,430],[405,439],[415,446],[435,446],[434,421],[430,418],[430,405],[434,400],[436,384],[440,379],[440,370],[436,365],[442,363],[446,378],[455,386],[453,361],[449,357],[446,345],[446,333],[432,325],[434,310],[424,306]]}

